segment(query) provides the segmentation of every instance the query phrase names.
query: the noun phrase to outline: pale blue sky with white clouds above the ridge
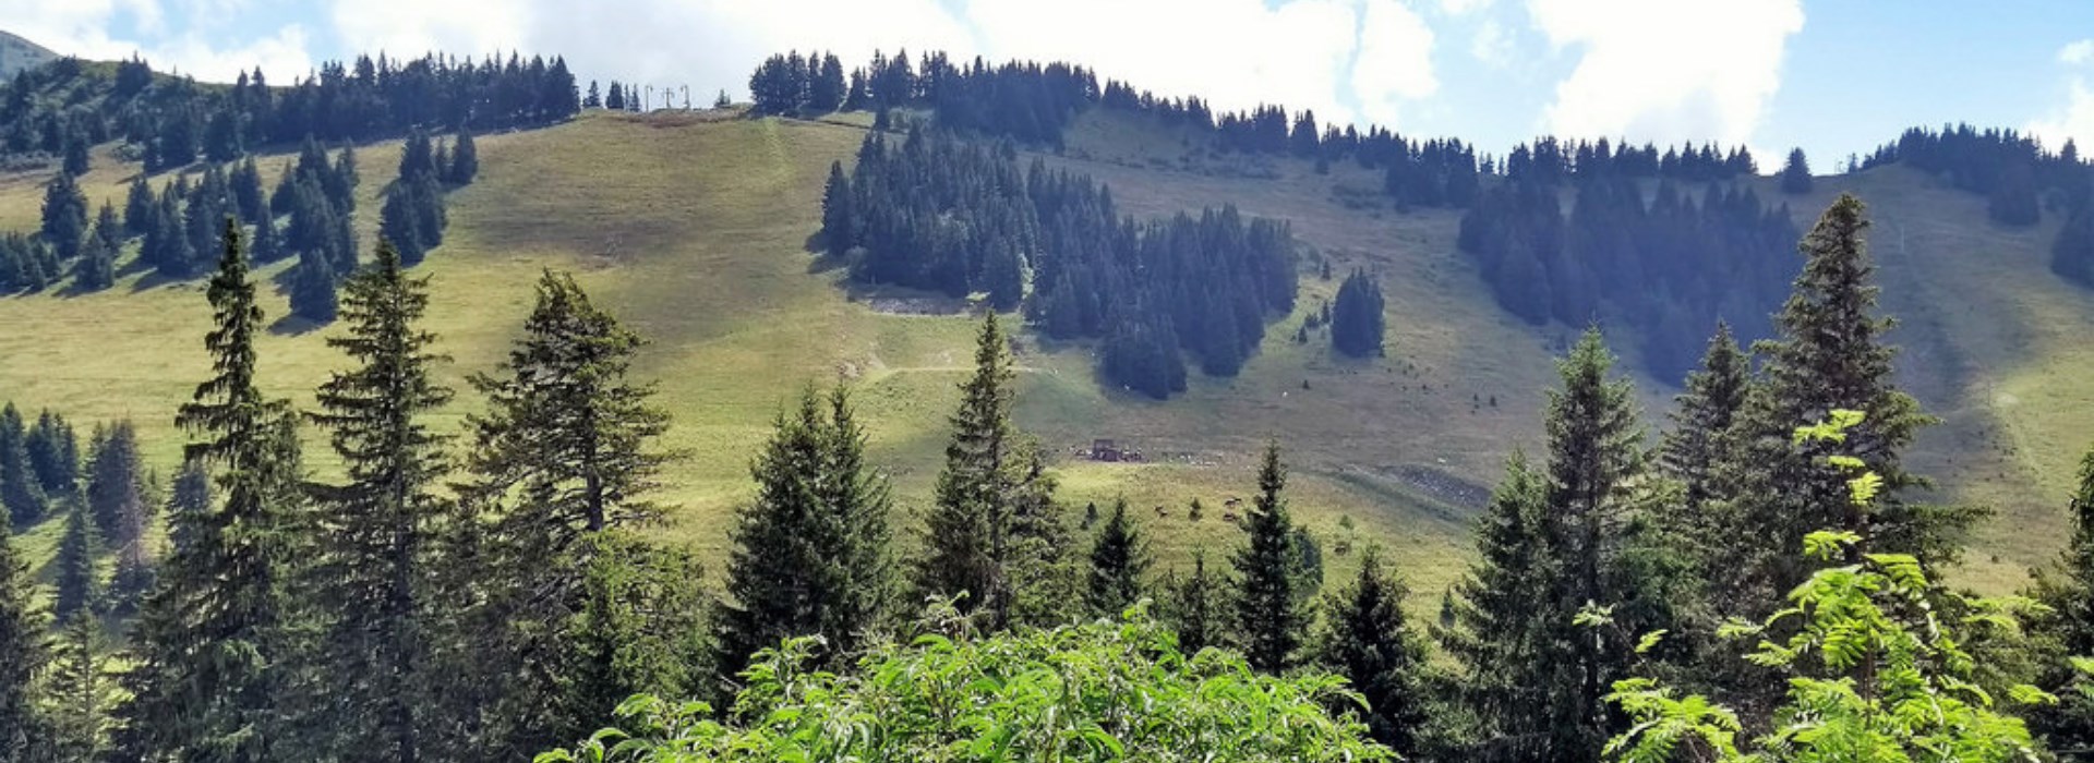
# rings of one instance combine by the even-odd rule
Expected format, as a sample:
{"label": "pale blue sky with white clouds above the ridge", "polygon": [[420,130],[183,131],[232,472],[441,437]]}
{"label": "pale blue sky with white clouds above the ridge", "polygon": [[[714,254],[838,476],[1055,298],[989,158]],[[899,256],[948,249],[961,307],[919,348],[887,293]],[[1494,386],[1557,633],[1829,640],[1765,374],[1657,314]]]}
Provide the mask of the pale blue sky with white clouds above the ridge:
{"label": "pale blue sky with white clouds above the ridge", "polygon": [[946,50],[1493,155],[1541,134],[1744,144],[1763,171],[1790,146],[1832,171],[1912,125],[2094,144],[2088,0],[0,0],[0,29],[199,79],[515,50],[737,98],[789,48]]}

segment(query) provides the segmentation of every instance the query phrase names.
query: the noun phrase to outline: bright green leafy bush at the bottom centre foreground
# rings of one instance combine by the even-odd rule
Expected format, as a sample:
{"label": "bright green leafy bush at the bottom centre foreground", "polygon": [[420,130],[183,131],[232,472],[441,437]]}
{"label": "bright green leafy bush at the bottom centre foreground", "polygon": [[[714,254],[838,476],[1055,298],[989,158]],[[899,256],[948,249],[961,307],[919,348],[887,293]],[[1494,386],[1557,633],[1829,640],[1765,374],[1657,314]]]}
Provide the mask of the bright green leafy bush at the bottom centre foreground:
{"label": "bright green leafy bush at the bottom centre foreground", "polygon": [[1326,700],[1330,675],[1254,675],[1242,656],[1185,656],[1143,606],[995,638],[923,635],[859,671],[804,671],[817,640],[758,652],[733,719],[706,702],[634,696],[622,730],[555,761],[1390,761]]}

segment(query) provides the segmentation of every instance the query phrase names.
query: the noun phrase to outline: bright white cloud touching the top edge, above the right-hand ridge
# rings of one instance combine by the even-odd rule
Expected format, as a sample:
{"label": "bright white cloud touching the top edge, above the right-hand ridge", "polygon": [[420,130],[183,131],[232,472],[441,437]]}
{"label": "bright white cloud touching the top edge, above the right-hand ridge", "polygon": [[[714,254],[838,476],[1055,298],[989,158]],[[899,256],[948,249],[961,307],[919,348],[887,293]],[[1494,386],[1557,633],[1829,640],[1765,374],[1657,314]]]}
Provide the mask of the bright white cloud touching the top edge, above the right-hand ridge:
{"label": "bright white cloud touching the top edge, above the right-hand ridge", "polygon": [[1543,130],[1740,144],[1780,88],[1799,0],[1529,0],[1535,27],[1581,48]]}

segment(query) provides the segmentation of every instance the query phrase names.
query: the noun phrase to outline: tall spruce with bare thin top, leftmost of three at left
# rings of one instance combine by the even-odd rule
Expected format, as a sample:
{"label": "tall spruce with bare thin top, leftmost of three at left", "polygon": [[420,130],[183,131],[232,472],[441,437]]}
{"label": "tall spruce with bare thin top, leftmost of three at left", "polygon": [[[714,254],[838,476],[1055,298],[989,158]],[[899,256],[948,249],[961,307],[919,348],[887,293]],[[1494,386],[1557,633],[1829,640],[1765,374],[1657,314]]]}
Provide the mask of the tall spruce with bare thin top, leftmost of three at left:
{"label": "tall spruce with bare thin top, leftmost of three at left", "polygon": [[228,222],[205,291],[214,376],[176,422],[201,437],[188,462],[216,468],[216,508],[170,518],[184,527],[168,573],[140,615],[126,707],[126,757],[266,761],[285,738],[289,564],[295,558],[297,435],[285,401],[255,387],[262,307],[239,226]]}

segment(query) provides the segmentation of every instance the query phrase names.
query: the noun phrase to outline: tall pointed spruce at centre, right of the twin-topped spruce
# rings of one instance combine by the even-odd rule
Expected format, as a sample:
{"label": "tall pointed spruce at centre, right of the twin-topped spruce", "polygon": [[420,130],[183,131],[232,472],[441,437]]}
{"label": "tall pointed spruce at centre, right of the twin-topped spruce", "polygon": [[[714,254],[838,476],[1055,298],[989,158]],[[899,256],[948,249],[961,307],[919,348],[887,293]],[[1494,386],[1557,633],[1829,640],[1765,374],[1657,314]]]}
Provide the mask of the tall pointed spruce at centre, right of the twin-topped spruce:
{"label": "tall pointed spruce at centre, right of the twin-topped spruce", "polygon": [[961,383],[953,439],[938,472],[915,587],[961,596],[961,612],[980,612],[990,629],[1024,619],[1030,583],[1053,581],[1055,552],[1043,533],[1057,523],[1053,481],[1039,449],[1011,424],[1011,351],[995,311],[982,320],[974,376]]}

